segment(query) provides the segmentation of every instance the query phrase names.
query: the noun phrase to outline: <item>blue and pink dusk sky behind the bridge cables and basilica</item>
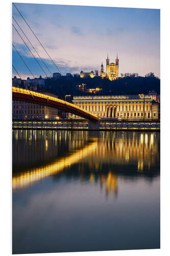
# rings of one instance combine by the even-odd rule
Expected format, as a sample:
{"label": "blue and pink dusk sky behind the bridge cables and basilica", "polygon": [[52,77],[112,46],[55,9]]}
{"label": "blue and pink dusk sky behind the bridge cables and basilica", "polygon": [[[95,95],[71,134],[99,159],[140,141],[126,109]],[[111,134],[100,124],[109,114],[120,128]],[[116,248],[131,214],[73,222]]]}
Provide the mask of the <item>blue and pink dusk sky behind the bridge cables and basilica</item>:
{"label": "blue and pink dusk sky behind the bridge cables and basilica", "polygon": [[[106,71],[108,53],[110,62],[115,62],[116,54],[118,55],[119,76],[121,73],[138,73],[144,76],[154,72],[160,78],[160,10],[20,3],[15,5],[62,75],[80,73],[81,70],[98,70],[100,73],[102,61]],[[12,15],[51,73],[58,72],[14,6]],[[12,23],[37,58],[14,19]],[[38,66],[14,28],[12,41],[35,77],[51,75],[37,58],[44,72]],[[14,48],[12,63],[21,78],[33,78]],[[13,75],[18,77],[14,69]]]}

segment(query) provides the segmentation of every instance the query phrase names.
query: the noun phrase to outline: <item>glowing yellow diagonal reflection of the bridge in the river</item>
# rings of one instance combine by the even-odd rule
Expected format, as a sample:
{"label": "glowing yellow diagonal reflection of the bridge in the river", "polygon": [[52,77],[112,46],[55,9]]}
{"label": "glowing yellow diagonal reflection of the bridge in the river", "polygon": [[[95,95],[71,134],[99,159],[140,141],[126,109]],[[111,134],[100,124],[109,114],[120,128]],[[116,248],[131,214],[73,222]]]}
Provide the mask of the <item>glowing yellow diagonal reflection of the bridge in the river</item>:
{"label": "glowing yellow diagonal reflection of the bridge in the river", "polygon": [[26,170],[26,172],[21,173],[18,176],[14,176],[12,179],[12,188],[16,189],[23,186],[28,186],[32,182],[61,172],[64,168],[69,167],[72,164],[75,164],[81,159],[90,155],[96,150],[97,145],[98,142],[92,142],[81,150],[76,151],[68,157],[62,158],[59,161],[54,162],[53,164],[49,164],[32,170]]}

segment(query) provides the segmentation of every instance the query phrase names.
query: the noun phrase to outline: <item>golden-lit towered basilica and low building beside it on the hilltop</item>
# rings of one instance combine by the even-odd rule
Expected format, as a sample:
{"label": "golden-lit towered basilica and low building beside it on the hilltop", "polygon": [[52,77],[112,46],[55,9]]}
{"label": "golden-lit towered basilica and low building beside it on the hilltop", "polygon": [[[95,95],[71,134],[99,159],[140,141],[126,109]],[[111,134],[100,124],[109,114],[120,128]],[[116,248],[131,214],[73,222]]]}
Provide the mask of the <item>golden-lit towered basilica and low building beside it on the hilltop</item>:
{"label": "golden-lit towered basilica and low building beside it on the hilltop", "polygon": [[[104,67],[103,67],[103,61],[101,65],[101,72],[100,76],[102,78],[108,78],[110,81],[113,81],[117,79],[118,77],[118,58],[115,59],[115,63],[109,62],[110,59],[107,54],[107,59],[106,59],[106,72],[104,72]],[[85,78],[85,77],[95,77],[98,76],[98,70],[95,70],[95,72],[91,71],[89,73],[84,73],[83,71],[80,72],[80,77]]]}

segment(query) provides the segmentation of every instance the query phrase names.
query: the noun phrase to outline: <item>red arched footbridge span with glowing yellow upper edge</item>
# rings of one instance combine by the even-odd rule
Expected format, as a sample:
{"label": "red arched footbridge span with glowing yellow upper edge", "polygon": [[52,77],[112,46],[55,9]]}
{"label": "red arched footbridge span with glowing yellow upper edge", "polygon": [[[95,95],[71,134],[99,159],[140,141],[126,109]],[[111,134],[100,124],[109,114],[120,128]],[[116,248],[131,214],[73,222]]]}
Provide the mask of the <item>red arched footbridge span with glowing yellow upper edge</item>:
{"label": "red arched footbridge span with glowing yellow upper edge", "polygon": [[22,101],[29,101],[36,104],[51,106],[52,108],[56,108],[59,110],[63,110],[65,112],[75,114],[77,116],[83,117],[90,121],[99,120],[97,116],[79,108],[74,104],[71,104],[67,101],[64,101],[46,94],[37,93],[37,92],[33,92],[33,91],[29,91],[29,90],[25,90],[17,87],[12,87],[12,98],[17,100],[22,100]]}

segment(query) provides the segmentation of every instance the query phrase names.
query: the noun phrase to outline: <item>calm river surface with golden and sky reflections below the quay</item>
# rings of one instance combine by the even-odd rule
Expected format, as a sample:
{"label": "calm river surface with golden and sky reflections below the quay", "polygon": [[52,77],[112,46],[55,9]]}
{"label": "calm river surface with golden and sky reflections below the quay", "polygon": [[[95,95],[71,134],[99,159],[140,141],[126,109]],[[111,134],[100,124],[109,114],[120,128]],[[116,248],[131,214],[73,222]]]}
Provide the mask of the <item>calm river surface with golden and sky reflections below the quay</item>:
{"label": "calm river surface with golden and sky reflections below the quay", "polygon": [[13,131],[13,253],[159,247],[159,133]]}

